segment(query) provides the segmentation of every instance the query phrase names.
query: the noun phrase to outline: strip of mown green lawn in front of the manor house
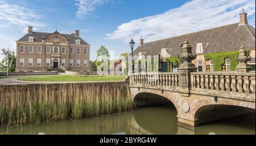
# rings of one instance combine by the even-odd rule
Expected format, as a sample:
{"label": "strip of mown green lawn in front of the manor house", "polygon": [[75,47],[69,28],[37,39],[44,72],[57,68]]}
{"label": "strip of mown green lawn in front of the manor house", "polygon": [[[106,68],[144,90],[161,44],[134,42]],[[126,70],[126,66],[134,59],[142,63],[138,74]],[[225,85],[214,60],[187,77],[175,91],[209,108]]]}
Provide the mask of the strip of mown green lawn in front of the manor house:
{"label": "strip of mown green lawn in front of the manor house", "polygon": [[52,75],[52,76],[27,76],[20,77],[23,81],[123,81],[126,76],[73,76],[73,75]]}

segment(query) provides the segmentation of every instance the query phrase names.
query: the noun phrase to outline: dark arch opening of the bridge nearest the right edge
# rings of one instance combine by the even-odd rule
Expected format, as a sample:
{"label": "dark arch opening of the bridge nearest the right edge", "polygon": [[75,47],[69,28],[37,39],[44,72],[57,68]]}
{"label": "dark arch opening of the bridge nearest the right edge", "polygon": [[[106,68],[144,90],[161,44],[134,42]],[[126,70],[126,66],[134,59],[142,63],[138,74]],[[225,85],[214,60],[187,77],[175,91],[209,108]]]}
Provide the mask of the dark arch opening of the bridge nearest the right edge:
{"label": "dark arch opening of the bridge nearest the right edge", "polygon": [[219,119],[255,114],[255,109],[228,104],[210,104],[201,106],[195,111],[195,126]]}

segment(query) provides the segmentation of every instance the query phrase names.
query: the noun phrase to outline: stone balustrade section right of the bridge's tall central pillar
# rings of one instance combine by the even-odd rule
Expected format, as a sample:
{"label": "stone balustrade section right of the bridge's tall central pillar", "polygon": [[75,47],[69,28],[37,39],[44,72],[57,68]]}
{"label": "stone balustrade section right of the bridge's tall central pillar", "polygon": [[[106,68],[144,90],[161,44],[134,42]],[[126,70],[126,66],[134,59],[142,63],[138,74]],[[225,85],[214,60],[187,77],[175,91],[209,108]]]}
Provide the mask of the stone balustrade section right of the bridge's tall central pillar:
{"label": "stone balustrade section right of the bridge's tall central pillar", "polygon": [[255,73],[191,72],[192,89],[255,93]]}

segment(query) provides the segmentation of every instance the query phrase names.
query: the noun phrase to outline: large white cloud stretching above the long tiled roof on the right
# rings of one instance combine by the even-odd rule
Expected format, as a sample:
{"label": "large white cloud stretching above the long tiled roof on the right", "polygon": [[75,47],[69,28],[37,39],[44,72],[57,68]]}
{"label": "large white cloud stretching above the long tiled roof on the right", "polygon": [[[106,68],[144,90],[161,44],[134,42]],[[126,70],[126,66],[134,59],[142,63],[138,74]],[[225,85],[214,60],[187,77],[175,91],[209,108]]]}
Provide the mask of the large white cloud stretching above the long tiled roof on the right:
{"label": "large white cloud stretching above the long tiled roof on the right", "polygon": [[[121,24],[114,32],[106,34],[106,39],[129,42],[131,38],[139,40],[143,35],[144,40],[148,42],[238,23],[242,6],[248,16],[255,15],[254,0],[194,0],[163,14]],[[251,24],[255,25],[255,19]]]}

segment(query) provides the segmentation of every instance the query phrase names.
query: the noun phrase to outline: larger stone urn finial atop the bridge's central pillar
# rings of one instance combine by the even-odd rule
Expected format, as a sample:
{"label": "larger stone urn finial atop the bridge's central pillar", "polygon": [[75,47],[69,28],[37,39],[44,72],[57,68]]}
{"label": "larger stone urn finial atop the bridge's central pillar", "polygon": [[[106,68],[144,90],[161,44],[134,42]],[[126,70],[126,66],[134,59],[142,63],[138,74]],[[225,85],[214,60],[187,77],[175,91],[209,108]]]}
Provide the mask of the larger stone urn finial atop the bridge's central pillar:
{"label": "larger stone urn finial atop the bridge's central pillar", "polygon": [[185,40],[184,45],[181,48],[180,59],[183,63],[191,63],[196,59],[196,54],[192,54],[192,46],[189,44],[188,40]]}

